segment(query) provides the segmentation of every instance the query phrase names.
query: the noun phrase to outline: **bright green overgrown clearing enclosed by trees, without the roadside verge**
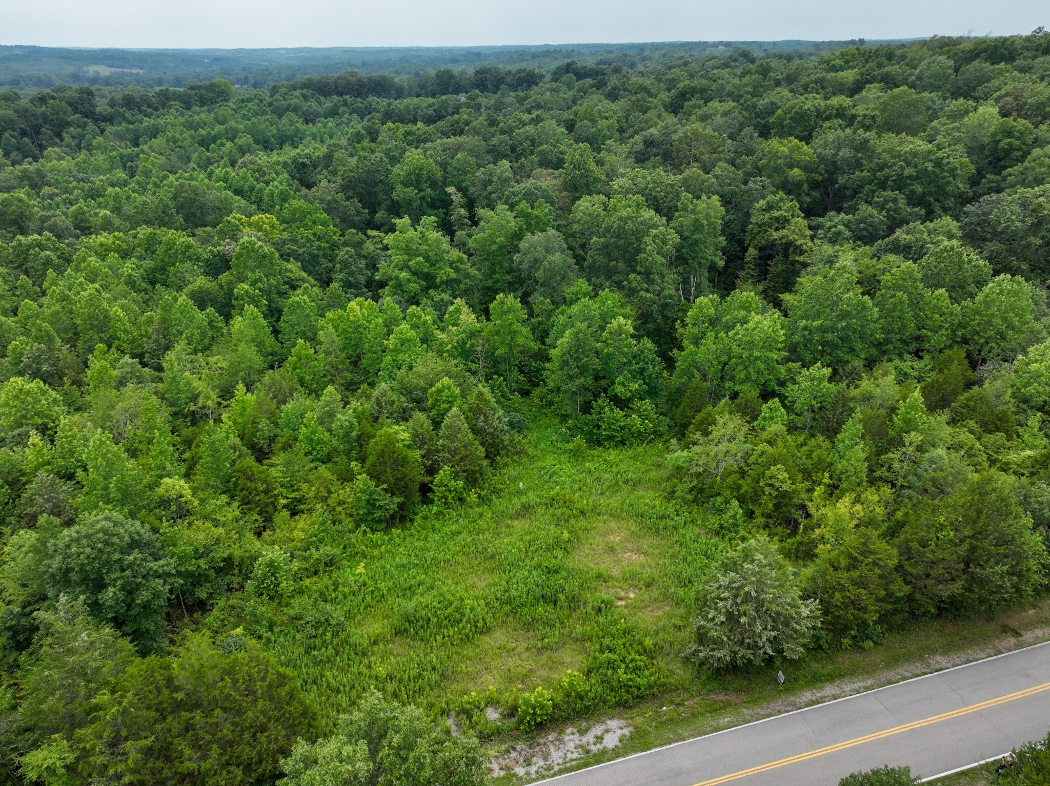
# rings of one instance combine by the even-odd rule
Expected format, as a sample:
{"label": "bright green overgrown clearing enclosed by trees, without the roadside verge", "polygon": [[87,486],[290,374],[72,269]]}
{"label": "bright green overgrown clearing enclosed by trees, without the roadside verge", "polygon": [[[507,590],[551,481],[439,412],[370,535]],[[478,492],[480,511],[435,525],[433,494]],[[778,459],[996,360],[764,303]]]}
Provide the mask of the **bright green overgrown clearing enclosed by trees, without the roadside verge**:
{"label": "bright green overgrown clearing enclosed by trees, without the roadside verge", "polygon": [[[651,637],[677,681],[688,586],[718,545],[663,502],[663,453],[588,449],[541,422],[483,501],[355,535],[348,567],[309,577],[281,610],[290,624],[271,616],[254,632],[329,720],[370,687],[447,711],[470,692],[500,702],[553,686],[583,670],[598,617]],[[251,624],[251,607],[220,614]]]}

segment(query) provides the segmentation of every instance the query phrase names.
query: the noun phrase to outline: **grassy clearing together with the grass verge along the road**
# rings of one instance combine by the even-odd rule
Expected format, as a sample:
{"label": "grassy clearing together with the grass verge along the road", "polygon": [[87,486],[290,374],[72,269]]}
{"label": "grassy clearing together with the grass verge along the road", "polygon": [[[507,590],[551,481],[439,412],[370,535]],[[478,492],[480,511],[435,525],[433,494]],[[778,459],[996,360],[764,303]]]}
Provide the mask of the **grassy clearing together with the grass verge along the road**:
{"label": "grassy clearing together with the grass verge along the road", "polygon": [[[331,723],[372,687],[458,717],[485,705],[512,710],[536,685],[556,702],[560,680],[587,665],[593,626],[627,620],[653,642],[662,680],[652,698],[582,717],[555,707],[562,720],[533,732],[479,729],[499,749],[581,722],[631,723],[618,747],[575,767],[1050,638],[1044,602],[993,619],[908,625],[867,651],[747,674],[698,672],[679,654],[693,588],[721,544],[662,495],[664,454],[659,445],[589,449],[539,419],[523,454],[478,504],[356,535],[349,567],[307,578],[281,612],[287,623],[271,616],[264,623],[273,633],[262,637]],[[542,568],[539,593],[512,590],[523,555]],[[784,688],[773,678],[780,667]]]}

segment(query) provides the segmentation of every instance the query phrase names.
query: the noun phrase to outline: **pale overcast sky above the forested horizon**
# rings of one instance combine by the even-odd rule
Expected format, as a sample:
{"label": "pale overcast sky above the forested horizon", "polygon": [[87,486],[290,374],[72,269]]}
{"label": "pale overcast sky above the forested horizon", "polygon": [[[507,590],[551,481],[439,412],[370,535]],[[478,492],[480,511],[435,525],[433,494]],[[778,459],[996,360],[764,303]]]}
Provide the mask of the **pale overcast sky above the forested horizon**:
{"label": "pale overcast sky above the forested horizon", "polygon": [[0,44],[42,46],[884,39],[1041,24],[1047,0],[0,0]]}

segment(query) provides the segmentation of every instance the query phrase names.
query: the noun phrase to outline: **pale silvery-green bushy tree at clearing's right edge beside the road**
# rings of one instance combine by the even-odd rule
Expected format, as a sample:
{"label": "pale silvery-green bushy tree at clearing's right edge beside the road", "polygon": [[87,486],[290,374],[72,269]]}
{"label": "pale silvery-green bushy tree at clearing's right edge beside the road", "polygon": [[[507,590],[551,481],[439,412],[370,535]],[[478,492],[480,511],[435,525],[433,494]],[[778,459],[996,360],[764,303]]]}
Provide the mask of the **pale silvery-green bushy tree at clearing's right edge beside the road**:
{"label": "pale silvery-green bushy tree at clearing's right edge beside the road", "polygon": [[709,668],[799,658],[820,623],[816,602],[801,597],[786,560],[764,538],[727,552],[701,583],[700,597],[697,640],[687,656]]}

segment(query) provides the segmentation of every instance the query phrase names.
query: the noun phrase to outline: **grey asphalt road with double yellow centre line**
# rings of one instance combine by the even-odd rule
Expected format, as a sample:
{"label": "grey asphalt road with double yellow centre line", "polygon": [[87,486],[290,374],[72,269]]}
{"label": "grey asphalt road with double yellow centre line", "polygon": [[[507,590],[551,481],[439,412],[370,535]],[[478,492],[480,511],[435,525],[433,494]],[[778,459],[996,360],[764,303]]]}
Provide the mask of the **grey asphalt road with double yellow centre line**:
{"label": "grey asphalt road with double yellow centre line", "polygon": [[1050,727],[1050,642],[552,778],[551,786],[835,786],[883,764],[929,778]]}

